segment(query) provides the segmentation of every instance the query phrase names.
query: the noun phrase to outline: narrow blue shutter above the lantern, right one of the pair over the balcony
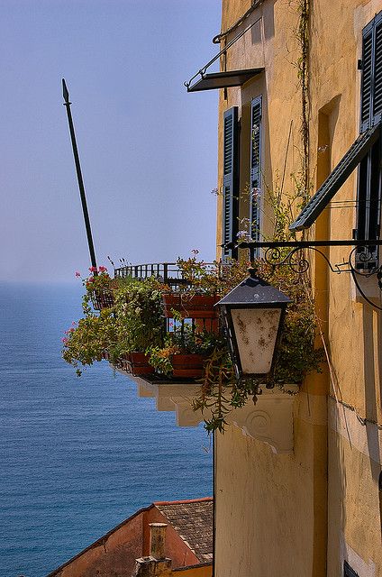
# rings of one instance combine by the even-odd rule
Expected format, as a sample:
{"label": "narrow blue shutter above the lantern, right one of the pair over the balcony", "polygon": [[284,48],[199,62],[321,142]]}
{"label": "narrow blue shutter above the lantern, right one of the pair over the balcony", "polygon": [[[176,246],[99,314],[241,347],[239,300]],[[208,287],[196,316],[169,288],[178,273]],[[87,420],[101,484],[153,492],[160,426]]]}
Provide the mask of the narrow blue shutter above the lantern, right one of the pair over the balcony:
{"label": "narrow blue shutter above the lantern, right one of the pair over the balcony", "polygon": [[261,96],[250,107],[250,237],[259,241],[261,209]]}

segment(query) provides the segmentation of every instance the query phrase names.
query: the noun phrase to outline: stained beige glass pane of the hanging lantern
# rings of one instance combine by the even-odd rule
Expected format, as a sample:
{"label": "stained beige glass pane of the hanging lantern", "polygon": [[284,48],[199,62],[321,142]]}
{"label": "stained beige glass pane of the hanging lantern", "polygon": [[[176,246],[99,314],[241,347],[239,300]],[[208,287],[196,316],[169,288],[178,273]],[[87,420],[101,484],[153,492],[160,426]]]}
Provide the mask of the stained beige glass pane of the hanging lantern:
{"label": "stained beige glass pane of the hanging lantern", "polygon": [[244,374],[268,374],[272,365],[280,308],[232,308],[232,323]]}

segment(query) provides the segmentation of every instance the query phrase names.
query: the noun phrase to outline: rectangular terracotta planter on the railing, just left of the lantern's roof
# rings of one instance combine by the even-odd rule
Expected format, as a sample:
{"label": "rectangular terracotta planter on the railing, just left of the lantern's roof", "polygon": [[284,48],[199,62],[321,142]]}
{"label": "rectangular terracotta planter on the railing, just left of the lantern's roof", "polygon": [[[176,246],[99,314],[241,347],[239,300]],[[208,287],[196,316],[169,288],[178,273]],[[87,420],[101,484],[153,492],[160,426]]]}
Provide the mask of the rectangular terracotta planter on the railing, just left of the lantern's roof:
{"label": "rectangular terracotta planter on the railing, just left of the lantern's roof", "polygon": [[214,307],[220,299],[217,295],[190,295],[187,293],[165,293],[162,295],[164,315],[173,318],[172,310],[184,318],[217,318]]}

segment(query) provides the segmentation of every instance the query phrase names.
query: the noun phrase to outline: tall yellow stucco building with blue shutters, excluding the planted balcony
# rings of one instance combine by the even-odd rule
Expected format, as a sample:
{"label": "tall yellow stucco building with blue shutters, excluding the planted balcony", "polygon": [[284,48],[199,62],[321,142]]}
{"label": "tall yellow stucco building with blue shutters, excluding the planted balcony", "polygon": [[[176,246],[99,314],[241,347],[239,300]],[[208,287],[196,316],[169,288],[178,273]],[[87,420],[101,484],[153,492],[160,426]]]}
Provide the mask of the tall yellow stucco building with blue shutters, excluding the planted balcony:
{"label": "tall yellow stucco building with blue shutters, excluding the planted balcony", "polygon": [[[225,74],[194,84],[220,88],[219,256],[243,228],[271,235],[269,191],[314,193],[328,177],[324,207],[316,199],[313,222],[296,229],[379,239],[381,11],[382,0],[223,0]],[[322,250],[346,269],[351,246]],[[240,427],[215,435],[216,577],[382,577],[381,290],[376,274],[356,273],[357,288],[308,252],[326,366],[287,401],[266,392]],[[381,249],[352,258],[375,272]]]}

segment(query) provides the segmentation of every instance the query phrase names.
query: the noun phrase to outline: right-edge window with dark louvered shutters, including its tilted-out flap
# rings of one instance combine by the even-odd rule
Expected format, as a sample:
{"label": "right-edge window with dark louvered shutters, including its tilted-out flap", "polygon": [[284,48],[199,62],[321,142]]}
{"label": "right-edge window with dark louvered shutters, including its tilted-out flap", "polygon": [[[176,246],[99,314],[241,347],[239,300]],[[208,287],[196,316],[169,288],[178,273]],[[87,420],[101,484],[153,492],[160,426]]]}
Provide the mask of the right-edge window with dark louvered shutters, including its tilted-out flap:
{"label": "right-edge window with dark louvered shutters, including its tilted-out flap", "polygon": [[[314,224],[351,172],[358,167],[357,224],[353,236],[359,241],[379,239],[382,198],[381,122],[382,12],[362,32],[359,138],[297,216],[290,230],[299,231]],[[359,270],[372,270],[377,265],[377,245],[359,248],[356,254],[356,267]]]}

